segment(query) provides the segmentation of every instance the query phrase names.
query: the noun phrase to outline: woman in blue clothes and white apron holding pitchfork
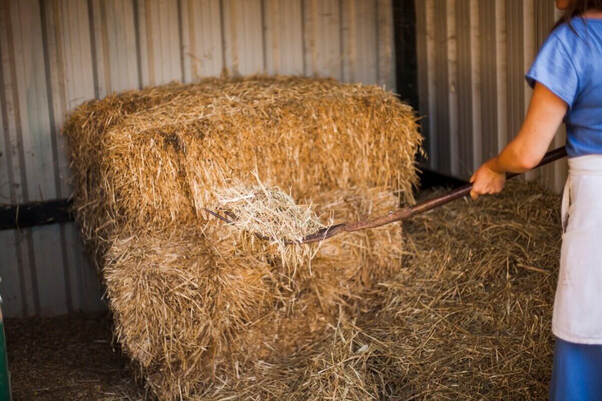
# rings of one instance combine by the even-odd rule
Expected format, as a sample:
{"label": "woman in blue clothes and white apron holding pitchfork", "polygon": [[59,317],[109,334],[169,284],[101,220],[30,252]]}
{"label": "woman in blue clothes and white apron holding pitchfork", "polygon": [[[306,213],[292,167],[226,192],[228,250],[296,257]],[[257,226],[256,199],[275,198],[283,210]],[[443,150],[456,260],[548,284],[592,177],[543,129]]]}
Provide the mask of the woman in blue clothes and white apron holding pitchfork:
{"label": "woman in blue clothes and white apron holding pitchfork", "polygon": [[534,90],[523,126],[474,173],[471,197],[500,192],[507,172],[535,167],[565,121],[569,178],[550,400],[602,400],[602,0],[556,0],[556,7],[565,14],[526,75]]}

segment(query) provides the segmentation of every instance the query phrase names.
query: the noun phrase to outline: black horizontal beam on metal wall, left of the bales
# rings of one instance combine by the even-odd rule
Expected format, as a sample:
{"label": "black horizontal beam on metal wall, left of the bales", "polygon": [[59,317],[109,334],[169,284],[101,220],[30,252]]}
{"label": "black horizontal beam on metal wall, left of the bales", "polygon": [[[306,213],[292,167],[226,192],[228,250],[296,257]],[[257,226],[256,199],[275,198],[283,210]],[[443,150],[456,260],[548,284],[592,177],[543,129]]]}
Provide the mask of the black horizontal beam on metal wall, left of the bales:
{"label": "black horizontal beam on metal wall, left of the bales", "polygon": [[36,203],[0,204],[0,230],[73,221],[71,201],[57,199]]}

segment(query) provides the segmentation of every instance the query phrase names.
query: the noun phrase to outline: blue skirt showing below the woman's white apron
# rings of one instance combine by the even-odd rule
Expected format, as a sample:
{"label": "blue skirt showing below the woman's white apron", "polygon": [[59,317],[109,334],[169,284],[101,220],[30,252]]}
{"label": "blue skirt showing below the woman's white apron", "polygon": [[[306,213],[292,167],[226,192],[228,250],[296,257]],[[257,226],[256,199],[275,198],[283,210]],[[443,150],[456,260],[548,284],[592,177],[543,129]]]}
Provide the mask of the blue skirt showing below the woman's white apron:
{"label": "blue skirt showing below the woman's white apron", "polygon": [[556,337],[550,401],[602,400],[602,345]]}

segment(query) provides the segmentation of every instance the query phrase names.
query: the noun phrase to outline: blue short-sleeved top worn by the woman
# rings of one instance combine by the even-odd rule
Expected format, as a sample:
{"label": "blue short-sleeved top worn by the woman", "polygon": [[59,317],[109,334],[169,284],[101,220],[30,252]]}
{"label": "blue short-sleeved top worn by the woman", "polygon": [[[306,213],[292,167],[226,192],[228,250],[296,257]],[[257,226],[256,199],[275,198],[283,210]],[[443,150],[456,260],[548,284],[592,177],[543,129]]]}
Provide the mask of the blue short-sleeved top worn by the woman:
{"label": "blue short-sleeved top worn by the woman", "polygon": [[569,158],[602,154],[602,19],[574,18],[545,40],[529,72],[568,104],[565,115]]}

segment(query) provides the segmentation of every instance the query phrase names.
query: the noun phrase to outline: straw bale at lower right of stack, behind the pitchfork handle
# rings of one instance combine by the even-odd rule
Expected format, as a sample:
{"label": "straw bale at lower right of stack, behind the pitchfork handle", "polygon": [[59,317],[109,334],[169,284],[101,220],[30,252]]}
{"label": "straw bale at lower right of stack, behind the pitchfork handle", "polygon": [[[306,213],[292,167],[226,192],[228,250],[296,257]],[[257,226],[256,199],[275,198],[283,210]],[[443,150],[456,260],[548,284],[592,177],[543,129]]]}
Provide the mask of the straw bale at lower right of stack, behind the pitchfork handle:
{"label": "straw bale at lower right of stack, behind the pitchfork handle", "polygon": [[[383,187],[335,189],[312,198],[312,207],[325,220],[332,213],[335,222],[355,222],[370,216],[386,215],[399,205],[391,191]],[[400,224],[334,236],[319,245],[311,270],[298,269],[295,277],[300,290],[311,288],[319,296],[324,313],[353,298],[361,291],[399,270],[403,255]],[[283,274],[287,274],[284,272]]]}

